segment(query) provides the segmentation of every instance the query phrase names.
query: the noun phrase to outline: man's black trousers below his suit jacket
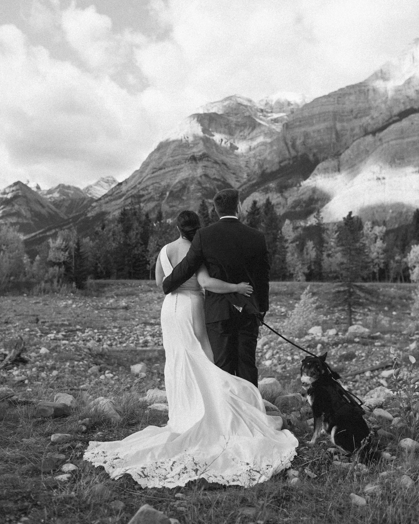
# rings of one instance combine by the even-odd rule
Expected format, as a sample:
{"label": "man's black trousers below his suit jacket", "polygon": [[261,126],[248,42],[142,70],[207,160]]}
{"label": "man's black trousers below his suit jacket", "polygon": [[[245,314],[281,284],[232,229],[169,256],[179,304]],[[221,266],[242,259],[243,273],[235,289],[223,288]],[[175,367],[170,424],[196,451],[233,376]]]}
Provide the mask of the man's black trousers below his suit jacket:
{"label": "man's black trousers below his suit jacket", "polygon": [[259,333],[255,315],[240,313],[231,304],[230,318],[206,324],[214,364],[258,387],[256,344]]}

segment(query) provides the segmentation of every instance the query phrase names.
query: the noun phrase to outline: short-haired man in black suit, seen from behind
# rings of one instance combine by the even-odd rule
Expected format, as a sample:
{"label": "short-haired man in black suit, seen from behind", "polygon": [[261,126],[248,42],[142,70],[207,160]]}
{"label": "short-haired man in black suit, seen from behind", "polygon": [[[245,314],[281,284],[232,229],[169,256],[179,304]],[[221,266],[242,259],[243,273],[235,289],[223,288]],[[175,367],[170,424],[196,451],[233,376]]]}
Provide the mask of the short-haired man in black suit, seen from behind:
{"label": "short-haired man in black suit, seen from behind", "polygon": [[163,280],[164,293],[177,289],[205,264],[210,277],[238,284],[249,282],[251,296],[205,291],[205,324],[214,363],[258,387],[255,312],[269,309],[269,257],[263,233],[240,222],[241,204],[235,189],[214,196],[220,220],[198,230],[185,258]]}

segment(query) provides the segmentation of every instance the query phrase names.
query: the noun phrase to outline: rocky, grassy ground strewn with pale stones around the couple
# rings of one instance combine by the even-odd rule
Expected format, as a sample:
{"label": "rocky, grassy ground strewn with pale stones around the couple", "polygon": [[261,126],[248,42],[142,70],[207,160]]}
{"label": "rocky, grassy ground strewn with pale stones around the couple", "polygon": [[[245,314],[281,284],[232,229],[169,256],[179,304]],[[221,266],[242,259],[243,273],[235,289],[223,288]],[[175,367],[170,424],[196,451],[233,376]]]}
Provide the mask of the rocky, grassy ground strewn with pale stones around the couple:
{"label": "rocky, grassy ground strewn with pale stones around the couple", "polygon": [[[266,322],[281,331],[305,287],[303,283],[273,283]],[[399,486],[403,476],[407,477],[405,483],[415,483],[419,464],[414,452],[408,459],[398,445],[415,435],[406,433],[398,420],[397,398],[385,397],[384,390],[392,387],[390,347],[400,354],[403,373],[408,356],[419,357],[419,331],[410,317],[413,287],[376,285],[378,298],[367,301],[355,317],[364,329],[355,328],[349,334],[345,312],[330,300],[332,289],[329,284],[311,285],[320,303],[318,322],[308,325],[310,333],[295,341],[316,354],[327,351],[329,365],[357,395],[365,398],[368,391],[376,390],[372,398],[379,401],[367,402],[366,418],[386,453],[387,465],[363,470],[330,450],[326,442],[314,450],[305,445],[311,438],[312,415],[304,398],[297,395],[300,383],[296,380],[304,355],[263,327],[257,350],[260,380],[277,379],[281,388],[275,394],[265,391],[263,396],[273,401],[273,411],[282,411],[299,438],[299,456],[293,462],[294,473],[282,475],[276,484],[266,483],[262,492],[222,490],[225,507],[224,503],[219,505],[216,489],[202,492],[195,485],[179,493],[138,490],[129,479],[111,482],[103,472],[81,461],[89,440],[120,439],[146,425],[167,422],[159,320],[163,296],[152,282],[96,282],[94,289],[68,296],[1,297],[0,366],[15,347],[25,344],[20,359],[0,369],[4,398],[0,398],[0,498],[6,521],[127,522],[139,506],[148,503],[181,522],[276,522],[278,515],[284,521],[297,522],[307,521],[304,506],[315,499],[323,516],[314,512],[308,521],[322,518],[334,522],[346,512],[351,522],[358,522],[358,518],[378,522],[374,518],[382,510],[380,522],[399,522],[400,508],[390,510],[384,495],[390,493],[391,486],[393,490]],[[385,398],[380,400],[380,395]],[[60,403],[70,406],[58,408]],[[64,416],[54,418],[54,409],[64,410],[55,413]],[[386,476],[385,472],[390,473]],[[380,477],[380,473],[384,475]],[[344,481],[343,492],[351,491],[346,498],[340,494],[337,505],[330,500],[328,506],[334,489]],[[317,483],[316,489],[313,483]],[[328,483],[333,489],[325,488]],[[366,490],[368,484],[373,486],[371,493]],[[413,518],[417,517],[417,504],[412,504],[414,497],[406,489],[398,504],[407,515],[404,522],[414,522],[418,520]],[[185,499],[177,497],[182,493]],[[213,493],[218,493],[218,499]],[[374,494],[379,498],[369,500]],[[355,507],[362,507],[358,503],[364,504],[357,503],[355,496],[362,497],[366,510],[355,512]],[[233,512],[227,511],[231,500]],[[378,514],[377,501],[385,503],[379,505]]]}

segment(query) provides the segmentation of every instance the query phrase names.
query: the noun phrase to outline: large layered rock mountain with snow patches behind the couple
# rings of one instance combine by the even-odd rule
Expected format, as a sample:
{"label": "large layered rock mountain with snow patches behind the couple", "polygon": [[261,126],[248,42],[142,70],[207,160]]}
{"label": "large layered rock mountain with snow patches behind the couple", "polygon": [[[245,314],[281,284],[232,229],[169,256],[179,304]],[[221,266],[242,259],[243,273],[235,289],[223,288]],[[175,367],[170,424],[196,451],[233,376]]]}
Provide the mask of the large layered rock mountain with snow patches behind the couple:
{"label": "large layered rock mountain with snow patches behind the couple", "polygon": [[269,196],[283,219],[321,209],[326,222],[349,211],[392,226],[408,220],[419,206],[419,39],[365,81],[312,101],[234,95],[205,104],[66,223],[88,233],[131,201],[173,217],[228,187],[245,210]]}

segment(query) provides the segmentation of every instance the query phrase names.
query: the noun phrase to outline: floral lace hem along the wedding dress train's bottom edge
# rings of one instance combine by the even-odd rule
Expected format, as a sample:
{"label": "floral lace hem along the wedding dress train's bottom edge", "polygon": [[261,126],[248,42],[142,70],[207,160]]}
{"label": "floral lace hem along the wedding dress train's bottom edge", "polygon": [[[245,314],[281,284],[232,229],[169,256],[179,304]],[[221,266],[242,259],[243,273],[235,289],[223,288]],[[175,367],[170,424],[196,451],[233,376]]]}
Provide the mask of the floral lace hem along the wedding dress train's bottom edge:
{"label": "floral lace hem along the wedding dress train's bottom edge", "polygon": [[215,471],[211,465],[217,460],[207,464],[202,458],[190,453],[178,455],[175,459],[166,459],[146,464],[144,466],[123,465],[128,457],[123,454],[109,454],[100,450],[102,442],[91,442],[86,450],[83,460],[91,462],[94,466],[103,466],[111,478],[117,479],[125,474],[131,475],[142,488],[160,488],[184,486],[190,481],[205,478],[209,483],[223,485],[239,485],[250,487],[265,482],[275,473],[279,473],[291,466],[291,460],[297,454],[295,449],[290,449],[274,462],[251,464],[238,459],[231,459],[228,472]]}

